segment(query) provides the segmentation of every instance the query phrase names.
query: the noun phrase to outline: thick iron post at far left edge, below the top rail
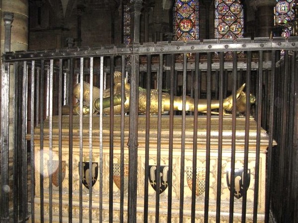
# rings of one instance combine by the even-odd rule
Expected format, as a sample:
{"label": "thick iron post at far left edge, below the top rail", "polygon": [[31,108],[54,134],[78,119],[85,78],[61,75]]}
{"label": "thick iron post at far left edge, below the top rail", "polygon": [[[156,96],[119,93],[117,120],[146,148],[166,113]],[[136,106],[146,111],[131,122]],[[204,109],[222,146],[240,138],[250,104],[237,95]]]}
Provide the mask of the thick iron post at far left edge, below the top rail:
{"label": "thick iron post at far left edge, below the top rail", "polygon": [[[6,68],[6,69],[5,69]],[[9,220],[8,211],[8,158],[9,158],[9,63],[2,63],[1,65],[1,116],[0,116],[0,158],[1,158],[1,172],[0,172],[0,221]]]}

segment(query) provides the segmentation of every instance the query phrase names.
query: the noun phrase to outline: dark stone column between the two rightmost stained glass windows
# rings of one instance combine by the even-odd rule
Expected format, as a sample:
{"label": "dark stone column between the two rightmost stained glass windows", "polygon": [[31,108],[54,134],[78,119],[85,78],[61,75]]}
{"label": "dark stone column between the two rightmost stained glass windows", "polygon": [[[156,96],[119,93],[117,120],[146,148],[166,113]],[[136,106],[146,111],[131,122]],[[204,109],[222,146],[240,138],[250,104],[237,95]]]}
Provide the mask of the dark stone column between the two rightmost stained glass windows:
{"label": "dark stone column between the two rightmost stained glass windows", "polygon": [[252,7],[256,11],[256,37],[270,37],[274,27],[274,6],[276,0],[252,0]]}

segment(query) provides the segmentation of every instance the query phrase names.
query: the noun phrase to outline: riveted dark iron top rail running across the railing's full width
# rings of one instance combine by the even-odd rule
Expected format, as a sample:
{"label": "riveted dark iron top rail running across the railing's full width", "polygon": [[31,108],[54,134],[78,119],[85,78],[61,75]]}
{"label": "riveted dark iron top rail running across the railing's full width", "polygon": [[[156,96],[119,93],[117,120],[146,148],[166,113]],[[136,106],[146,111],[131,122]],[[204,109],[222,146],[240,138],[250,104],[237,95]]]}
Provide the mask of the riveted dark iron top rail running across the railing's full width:
{"label": "riveted dark iron top rail running across the railing's full width", "polygon": [[203,41],[172,41],[131,44],[131,45],[108,45],[100,47],[83,47],[53,49],[46,51],[21,51],[8,52],[3,55],[4,61],[32,60],[32,59],[55,59],[85,56],[121,56],[121,55],[152,55],[152,54],[183,54],[183,53],[206,53],[226,51],[270,51],[270,50],[297,50],[298,37],[274,37],[270,38],[240,38],[214,39]]}

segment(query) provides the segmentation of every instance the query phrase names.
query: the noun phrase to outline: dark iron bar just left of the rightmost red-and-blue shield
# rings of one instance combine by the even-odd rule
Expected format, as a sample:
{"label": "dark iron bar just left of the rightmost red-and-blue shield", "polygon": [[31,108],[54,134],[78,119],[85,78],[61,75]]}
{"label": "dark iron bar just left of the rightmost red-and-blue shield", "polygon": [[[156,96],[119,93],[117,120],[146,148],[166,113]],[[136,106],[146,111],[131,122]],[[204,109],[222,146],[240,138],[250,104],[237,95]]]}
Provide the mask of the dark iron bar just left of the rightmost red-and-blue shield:
{"label": "dark iron bar just left of the rightmost red-and-blue shield", "polygon": [[184,205],[184,163],[185,163],[185,120],[186,120],[186,71],[187,55],[183,54],[183,87],[182,87],[182,129],[181,129],[181,168],[180,168],[180,202],[179,202],[179,223],[183,222]]}

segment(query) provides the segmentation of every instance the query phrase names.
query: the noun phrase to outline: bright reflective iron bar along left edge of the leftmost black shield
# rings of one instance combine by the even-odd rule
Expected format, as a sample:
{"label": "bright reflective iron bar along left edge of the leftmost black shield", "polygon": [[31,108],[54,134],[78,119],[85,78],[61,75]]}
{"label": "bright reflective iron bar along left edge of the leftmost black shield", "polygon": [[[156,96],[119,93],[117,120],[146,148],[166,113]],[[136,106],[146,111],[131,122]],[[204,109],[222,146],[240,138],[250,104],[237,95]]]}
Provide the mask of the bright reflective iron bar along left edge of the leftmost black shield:
{"label": "bright reflective iron bar along left edge of the leftmost black shield", "polygon": [[79,222],[83,221],[83,81],[84,81],[84,58],[80,57],[79,73]]}

